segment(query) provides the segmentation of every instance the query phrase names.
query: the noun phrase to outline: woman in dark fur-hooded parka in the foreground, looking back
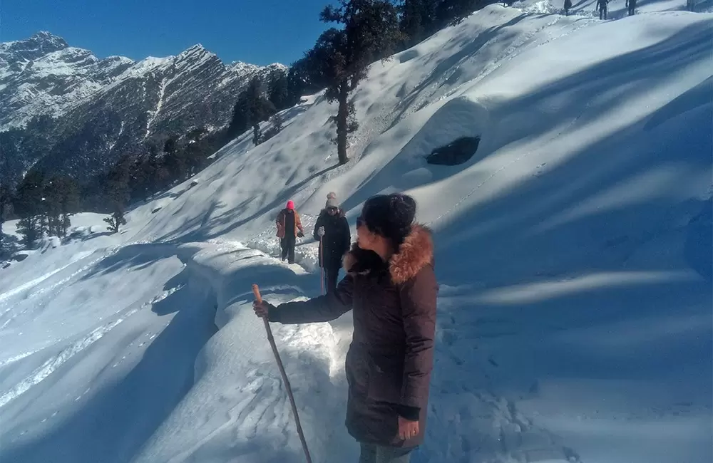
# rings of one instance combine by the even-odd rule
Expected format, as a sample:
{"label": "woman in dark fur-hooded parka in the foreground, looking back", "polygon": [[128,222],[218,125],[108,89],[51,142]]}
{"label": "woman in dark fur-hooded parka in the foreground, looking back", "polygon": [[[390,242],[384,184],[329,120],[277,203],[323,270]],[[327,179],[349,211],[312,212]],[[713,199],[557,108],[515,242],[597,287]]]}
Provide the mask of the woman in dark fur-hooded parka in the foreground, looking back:
{"label": "woman in dark fur-hooded parka in the foreground, looking back", "polygon": [[334,291],[277,307],[253,302],[257,316],[279,323],[332,321],[353,311],[346,425],[361,444],[360,463],[408,463],[426,431],[438,287],[431,232],[415,215],[416,201],[405,194],[369,198],[344,256],[347,276]]}

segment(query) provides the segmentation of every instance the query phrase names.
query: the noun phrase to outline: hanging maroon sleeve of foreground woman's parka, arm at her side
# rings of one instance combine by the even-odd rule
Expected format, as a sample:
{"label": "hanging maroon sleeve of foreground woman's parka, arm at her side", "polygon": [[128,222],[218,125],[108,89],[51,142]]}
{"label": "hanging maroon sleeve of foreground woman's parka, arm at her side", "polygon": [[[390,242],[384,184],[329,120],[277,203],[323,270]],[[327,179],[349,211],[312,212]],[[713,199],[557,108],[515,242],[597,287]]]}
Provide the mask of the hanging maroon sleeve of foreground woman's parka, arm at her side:
{"label": "hanging maroon sleeve of foreground woman's parka, arm at her side", "polygon": [[399,405],[422,408],[428,402],[434,365],[437,288],[434,269],[426,266],[399,290],[406,333],[404,378]]}

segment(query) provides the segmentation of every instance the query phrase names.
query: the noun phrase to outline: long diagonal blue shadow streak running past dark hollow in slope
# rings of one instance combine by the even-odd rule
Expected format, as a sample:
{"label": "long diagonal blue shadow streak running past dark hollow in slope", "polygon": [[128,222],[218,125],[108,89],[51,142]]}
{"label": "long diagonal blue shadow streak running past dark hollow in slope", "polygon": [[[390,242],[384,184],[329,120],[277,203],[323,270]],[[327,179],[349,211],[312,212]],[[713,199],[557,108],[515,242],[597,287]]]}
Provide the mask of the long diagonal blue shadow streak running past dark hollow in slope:
{"label": "long diagonal blue shadow streak running past dark hollow in slope", "polygon": [[[520,98],[509,100],[503,108],[497,109],[497,113],[491,113],[489,126],[481,127],[482,124],[477,120],[461,120],[458,123],[463,124],[463,130],[469,127],[472,127],[472,130],[483,130],[482,133],[461,134],[481,136],[478,152],[470,161],[458,167],[442,167],[428,165],[425,160],[422,160],[421,165],[417,167],[426,170],[429,175],[421,175],[415,179],[404,176],[404,168],[408,167],[409,170],[416,168],[414,165],[407,165],[404,158],[425,157],[439,145],[453,141],[438,140],[438,145],[429,145],[428,140],[434,138],[433,131],[438,130],[438,125],[426,123],[404,145],[399,155],[396,155],[376,175],[370,176],[359,185],[356,192],[344,201],[344,207],[345,209],[355,207],[374,192],[384,189],[399,191],[420,187],[423,184],[434,184],[466,170],[513,142],[533,139],[556,127],[570,130],[573,124],[585,124],[589,120],[599,118],[600,115],[617,108],[623,96],[634,98],[635,95],[649,93],[650,88],[647,83],[651,76],[670,75],[685,66],[705,61],[709,56],[710,42],[713,40],[711,30],[710,21],[694,24],[652,46],[595,63],[578,73],[545,84]],[[710,85],[702,85],[692,90],[696,98],[684,98],[684,106],[687,110],[709,102],[704,98],[698,98],[706,96],[709,88]],[[568,104],[562,107],[562,101],[567,101]],[[458,100],[446,103],[432,119],[436,120],[436,116],[441,111],[446,113],[447,118],[449,105],[456,106],[458,110],[461,104],[464,103],[459,103]],[[473,102],[472,105],[471,117],[476,117],[478,102]],[[552,110],[552,108],[558,109]],[[542,114],[533,117],[533,113],[538,113],[538,110]],[[463,115],[463,118],[466,117],[468,116]],[[667,118],[670,117],[671,115],[667,115]],[[497,140],[492,140],[491,132],[498,134]],[[479,180],[481,179],[473,181]]]}

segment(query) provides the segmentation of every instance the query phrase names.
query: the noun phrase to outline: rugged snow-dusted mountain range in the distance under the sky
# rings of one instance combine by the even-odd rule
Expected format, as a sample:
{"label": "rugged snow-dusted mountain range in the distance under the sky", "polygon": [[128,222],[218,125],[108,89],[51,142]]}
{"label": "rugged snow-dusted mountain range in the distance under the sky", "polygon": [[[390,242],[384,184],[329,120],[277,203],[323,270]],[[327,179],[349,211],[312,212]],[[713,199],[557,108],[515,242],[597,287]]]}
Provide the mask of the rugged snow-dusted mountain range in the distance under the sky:
{"label": "rugged snow-dusted mountain range in the distance under the sky", "polygon": [[277,71],[284,66],[225,65],[200,45],[136,62],[100,60],[48,32],[0,43],[0,178],[37,162],[83,176],[154,135],[220,128],[250,78]]}

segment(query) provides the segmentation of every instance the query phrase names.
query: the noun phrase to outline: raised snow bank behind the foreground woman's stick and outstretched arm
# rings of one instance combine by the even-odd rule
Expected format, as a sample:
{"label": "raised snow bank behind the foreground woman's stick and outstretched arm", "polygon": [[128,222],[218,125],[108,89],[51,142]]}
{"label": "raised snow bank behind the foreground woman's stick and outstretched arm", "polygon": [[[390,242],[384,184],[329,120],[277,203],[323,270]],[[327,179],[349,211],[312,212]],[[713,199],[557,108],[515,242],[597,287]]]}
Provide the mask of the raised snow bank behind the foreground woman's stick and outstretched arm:
{"label": "raised snow bank behind the foreground woman's stick and outstretched arm", "polygon": [[[301,297],[299,288],[319,291],[319,281],[239,243],[188,244],[178,256],[215,293],[220,331],[196,360],[190,392],[135,461],[301,461],[279,370],[252,311],[250,282],[260,281],[265,299],[279,303]],[[272,326],[315,462],[356,451],[343,426],[351,324],[344,316],[332,324]]]}

